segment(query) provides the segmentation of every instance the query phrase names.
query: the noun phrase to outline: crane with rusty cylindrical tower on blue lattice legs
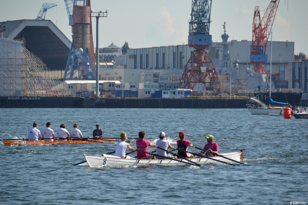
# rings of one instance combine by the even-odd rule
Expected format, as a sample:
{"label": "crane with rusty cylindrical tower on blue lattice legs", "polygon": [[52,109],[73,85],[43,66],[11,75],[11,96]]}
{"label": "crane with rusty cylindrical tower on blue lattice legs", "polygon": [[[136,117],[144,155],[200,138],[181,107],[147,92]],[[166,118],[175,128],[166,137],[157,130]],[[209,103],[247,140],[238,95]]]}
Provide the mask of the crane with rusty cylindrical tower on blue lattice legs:
{"label": "crane with rusty cylindrical tower on blue lattice legs", "polygon": [[67,59],[63,80],[91,79],[95,80],[93,70],[94,45],[91,18],[90,0],[64,0],[72,26],[73,43]]}

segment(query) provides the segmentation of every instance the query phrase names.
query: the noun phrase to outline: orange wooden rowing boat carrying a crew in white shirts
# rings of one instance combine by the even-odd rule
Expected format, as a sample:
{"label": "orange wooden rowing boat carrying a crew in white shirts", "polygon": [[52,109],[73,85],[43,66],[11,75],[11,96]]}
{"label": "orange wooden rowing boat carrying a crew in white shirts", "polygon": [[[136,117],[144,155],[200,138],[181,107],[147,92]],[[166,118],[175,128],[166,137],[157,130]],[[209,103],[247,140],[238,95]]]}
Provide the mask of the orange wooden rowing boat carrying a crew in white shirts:
{"label": "orange wooden rowing boat carrying a crew in white shirts", "polygon": [[82,139],[82,140],[69,140],[69,141],[27,141],[27,140],[1,140],[4,145],[43,145],[43,144],[87,144],[87,143],[115,143],[117,139],[115,138],[103,138],[102,140],[95,140],[95,139]]}

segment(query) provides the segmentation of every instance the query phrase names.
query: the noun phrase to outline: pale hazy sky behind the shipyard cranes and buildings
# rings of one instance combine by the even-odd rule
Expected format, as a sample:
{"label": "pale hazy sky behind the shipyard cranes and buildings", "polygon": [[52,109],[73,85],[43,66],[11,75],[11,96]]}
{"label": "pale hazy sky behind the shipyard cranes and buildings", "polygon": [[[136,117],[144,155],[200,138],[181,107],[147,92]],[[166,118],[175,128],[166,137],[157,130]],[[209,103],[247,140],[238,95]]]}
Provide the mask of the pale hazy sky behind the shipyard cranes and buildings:
{"label": "pale hazy sky behind the shipyard cranes and buildings", "polygon": [[[43,3],[57,4],[47,10],[51,20],[70,40],[71,28],[64,0],[0,0],[0,22],[35,19]],[[92,0],[91,10],[108,10],[108,16],[99,18],[99,47],[112,42],[122,47],[148,48],[187,44],[191,0]],[[260,7],[261,18],[270,0],[213,0],[210,34],[214,42],[221,42],[223,24],[230,40],[252,40],[255,6]],[[272,27],[273,41],[295,42],[294,54],[308,55],[308,0],[280,0]],[[92,18],[93,41],[96,45],[96,19]],[[270,38],[269,38],[270,40]]]}

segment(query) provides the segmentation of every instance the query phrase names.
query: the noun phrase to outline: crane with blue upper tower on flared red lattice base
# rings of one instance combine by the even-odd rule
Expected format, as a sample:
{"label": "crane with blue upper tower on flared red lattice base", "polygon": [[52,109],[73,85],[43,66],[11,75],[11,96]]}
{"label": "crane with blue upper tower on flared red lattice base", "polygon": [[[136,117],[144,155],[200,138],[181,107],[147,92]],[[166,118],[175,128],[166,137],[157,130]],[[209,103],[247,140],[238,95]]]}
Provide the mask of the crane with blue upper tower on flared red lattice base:
{"label": "crane with blue upper tower on flared red lattice base", "polygon": [[180,88],[209,91],[219,84],[215,66],[206,50],[212,44],[212,35],[209,35],[211,6],[212,0],[192,0],[188,45],[194,50],[180,79]]}

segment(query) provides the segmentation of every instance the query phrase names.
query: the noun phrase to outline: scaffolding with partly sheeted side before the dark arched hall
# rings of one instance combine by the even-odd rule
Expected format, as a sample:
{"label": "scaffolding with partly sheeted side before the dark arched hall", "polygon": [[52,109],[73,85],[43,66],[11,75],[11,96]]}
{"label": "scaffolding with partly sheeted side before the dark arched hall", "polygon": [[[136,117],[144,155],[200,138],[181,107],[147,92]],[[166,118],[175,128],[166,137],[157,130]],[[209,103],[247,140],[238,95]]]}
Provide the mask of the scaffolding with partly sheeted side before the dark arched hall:
{"label": "scaffolding with partly sheeted side before the dark arched hall", "polygon": [[3,44],[10,49],[3,52],[0,59],[0,96],[66,96],[62,81],[48,73],[46,64],[39,57],[24,46],[11,44],[14,42]]}

